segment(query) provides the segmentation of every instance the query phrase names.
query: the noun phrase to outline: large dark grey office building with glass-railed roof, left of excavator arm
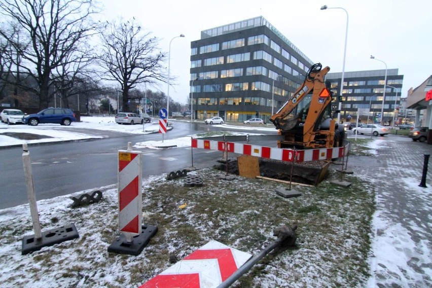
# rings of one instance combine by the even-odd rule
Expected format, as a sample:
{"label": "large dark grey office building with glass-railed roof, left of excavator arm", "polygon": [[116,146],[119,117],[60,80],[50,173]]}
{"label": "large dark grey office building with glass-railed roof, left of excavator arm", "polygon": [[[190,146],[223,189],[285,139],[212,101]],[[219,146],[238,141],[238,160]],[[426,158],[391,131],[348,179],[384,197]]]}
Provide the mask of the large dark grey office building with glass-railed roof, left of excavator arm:
{"label": "large dark grey office building with glass-railed roof, left of excavator arm", "polygon": [[194,118],[268,122],[312,64],[263,17],[203,30],[201,39],[191,42]]}

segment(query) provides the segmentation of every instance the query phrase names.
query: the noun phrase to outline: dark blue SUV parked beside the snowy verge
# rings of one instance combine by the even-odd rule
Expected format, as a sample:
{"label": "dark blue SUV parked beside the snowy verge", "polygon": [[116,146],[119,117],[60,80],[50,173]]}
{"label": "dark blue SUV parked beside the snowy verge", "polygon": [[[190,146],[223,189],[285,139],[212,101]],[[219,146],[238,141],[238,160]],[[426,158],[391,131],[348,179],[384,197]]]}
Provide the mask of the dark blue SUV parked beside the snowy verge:
{"label": "dark blue SUV parked beside the snowy verge", "polygon": [[37,114],[25,115],[22,118],[24,124],[37,126],[39,123],[54,123],[69,126],[76,121],[75,113],[67,108],[47,108]]}

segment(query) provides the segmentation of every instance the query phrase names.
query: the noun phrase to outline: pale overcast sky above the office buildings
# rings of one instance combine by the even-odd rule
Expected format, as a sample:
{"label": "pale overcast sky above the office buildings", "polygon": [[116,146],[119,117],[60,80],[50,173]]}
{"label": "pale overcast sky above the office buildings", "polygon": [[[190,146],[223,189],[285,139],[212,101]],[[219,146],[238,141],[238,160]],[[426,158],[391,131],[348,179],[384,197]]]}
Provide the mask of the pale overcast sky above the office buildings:
{"label": "pale overcast sky above the office buildings", "polygon": [[[119,16],[141,23],[160,39],[161,50],[169,51],[170,75],[177,77],[169,95],[187,103],[190,86],[191,42],[209,28],[263,16],[313,62],[341,72],[348,12],[345,72],[399,68],[404,75],[402,96],[432,75],[432,1],[430,0],[100,0],[106,19]],[[155,90],[155,88],[153,88]],[[167,85],[159,87],[167,93]]]}

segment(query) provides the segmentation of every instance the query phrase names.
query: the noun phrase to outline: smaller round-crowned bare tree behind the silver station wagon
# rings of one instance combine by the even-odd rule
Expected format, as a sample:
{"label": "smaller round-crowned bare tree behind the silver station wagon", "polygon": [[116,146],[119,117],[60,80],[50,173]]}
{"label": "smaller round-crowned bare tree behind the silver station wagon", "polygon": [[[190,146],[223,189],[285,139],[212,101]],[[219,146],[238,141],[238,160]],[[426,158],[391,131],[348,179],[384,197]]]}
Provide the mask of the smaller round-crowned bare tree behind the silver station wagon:
{"label": "smaller round-crowned bare tree behind the silver station wagon", "polygon": [[129,109],[129,90],[141,83],[166,82],[166,55],[158,49],[158,39],[143,32],[133,19],[109,23],[101,33],[103,79],[120,84],[123,109]]}

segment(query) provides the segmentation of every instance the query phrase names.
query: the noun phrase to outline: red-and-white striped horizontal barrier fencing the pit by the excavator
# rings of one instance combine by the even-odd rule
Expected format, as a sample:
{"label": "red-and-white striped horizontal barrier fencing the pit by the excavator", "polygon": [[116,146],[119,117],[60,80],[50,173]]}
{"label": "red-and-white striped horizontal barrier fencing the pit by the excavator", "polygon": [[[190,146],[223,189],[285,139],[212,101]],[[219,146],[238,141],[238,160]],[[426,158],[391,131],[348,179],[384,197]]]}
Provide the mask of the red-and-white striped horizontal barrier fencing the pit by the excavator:
{"label": "red-and-white striped horizontal barrier fencing the pit by the excavator", "polygon": [[236,142],[213,141],[206,139],[192,139],[191,146],[192,148],[218,150],[223,152],[227,151],[231,153],[289,162],[294,161],[294,155],[296,155],[296,162],[307,162],[340,158],[344,156],[344,153],[346,156],[346,153],[348,152],[348,149],[345,149],[345,147],[294,151],[292,149],[272,148]]}

